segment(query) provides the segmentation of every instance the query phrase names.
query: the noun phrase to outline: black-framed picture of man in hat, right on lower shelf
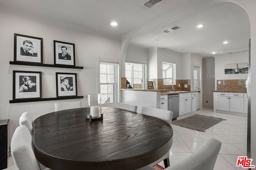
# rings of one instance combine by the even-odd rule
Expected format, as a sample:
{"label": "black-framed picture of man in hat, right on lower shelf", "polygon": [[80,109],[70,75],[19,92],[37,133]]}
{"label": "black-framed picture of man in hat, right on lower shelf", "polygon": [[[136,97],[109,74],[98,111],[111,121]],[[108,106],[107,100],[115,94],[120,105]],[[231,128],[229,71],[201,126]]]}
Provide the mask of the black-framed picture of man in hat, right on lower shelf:
{"label": "black-framed picture of man in hat, right on lower shelf", "polygon": [[77,96],[76,73],[56,72],[57,98],[66,96]]}

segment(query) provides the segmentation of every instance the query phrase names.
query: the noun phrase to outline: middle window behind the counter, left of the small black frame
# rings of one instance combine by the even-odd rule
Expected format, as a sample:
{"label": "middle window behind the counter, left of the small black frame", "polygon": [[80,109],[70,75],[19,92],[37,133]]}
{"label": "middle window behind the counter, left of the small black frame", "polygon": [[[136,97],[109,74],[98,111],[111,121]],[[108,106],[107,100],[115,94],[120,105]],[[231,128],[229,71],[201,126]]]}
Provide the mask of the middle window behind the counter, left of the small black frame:
{"label": "middle window behind the counter, left of the small black frame", "polygon": [[126,80],[136,89],[145,88],[146,64],[125,63]]}

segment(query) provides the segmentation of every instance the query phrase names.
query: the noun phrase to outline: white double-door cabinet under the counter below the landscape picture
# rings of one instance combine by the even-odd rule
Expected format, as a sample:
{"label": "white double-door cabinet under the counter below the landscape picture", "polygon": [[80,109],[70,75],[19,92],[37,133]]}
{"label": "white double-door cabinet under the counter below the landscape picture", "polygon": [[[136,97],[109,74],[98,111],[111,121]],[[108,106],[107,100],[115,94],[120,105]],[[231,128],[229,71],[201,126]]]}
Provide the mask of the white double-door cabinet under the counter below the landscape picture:
{"label": "white double-door cabinet under the counter below the landscape picture", "polygon": [[217,92],[216,104],[216,110],[244,113],[244,94]]}

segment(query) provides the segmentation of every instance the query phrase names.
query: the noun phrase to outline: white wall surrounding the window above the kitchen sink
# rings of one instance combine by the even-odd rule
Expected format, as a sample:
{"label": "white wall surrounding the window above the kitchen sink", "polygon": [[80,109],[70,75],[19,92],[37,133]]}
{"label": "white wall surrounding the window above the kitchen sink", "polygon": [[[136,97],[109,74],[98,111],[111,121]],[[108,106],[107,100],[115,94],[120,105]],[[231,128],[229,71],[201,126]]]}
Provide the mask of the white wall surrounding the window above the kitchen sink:
{"label": "white wall surrounding the window above the kitchen sink", "polygon": [[176,64],[176,79],[181,79],[182,77],[182,62],[181,62],[182,54],[176,53],[174,51],[157,48],[157,77],[163,78],[162,76],[162,62],[168,62]]}

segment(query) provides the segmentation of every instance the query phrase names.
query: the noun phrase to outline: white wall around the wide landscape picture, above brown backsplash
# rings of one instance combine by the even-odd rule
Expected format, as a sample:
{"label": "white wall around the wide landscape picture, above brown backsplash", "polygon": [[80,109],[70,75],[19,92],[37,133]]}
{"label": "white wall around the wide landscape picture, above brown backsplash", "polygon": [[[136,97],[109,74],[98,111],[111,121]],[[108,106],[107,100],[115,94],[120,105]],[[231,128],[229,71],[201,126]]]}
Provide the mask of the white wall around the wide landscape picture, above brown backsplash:
{"label": "white wall around the wide landscape picture, above brown backsplash", "polygon": [[215,90],[217,89],[216,80],[235,80],[247,79],[248,74],[225,74],[225,64],[248,63],[249,53],[236,53],[215,56]]}

